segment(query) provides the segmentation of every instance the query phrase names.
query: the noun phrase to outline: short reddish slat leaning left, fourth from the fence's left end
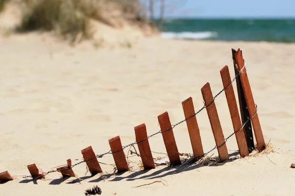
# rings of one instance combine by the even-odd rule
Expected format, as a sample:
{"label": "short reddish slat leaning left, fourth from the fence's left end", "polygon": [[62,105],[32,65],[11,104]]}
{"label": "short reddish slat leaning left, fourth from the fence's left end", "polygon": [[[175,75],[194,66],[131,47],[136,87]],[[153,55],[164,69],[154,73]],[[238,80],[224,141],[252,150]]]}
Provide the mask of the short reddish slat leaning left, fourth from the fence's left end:
{"label": "short reddish slat leaning left, fourth from the fence's left end", "polygon": [[[101,173],[102,169],[96,159],[95,153],[91,146],[81,150],[84,160],[86,161],[87,167],[89,168],[89,172],[91,175],[95,175],[97,173]],[[89,161],[91,160],[91,161]]]}

